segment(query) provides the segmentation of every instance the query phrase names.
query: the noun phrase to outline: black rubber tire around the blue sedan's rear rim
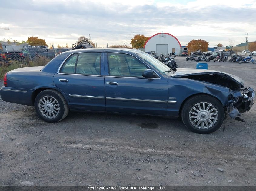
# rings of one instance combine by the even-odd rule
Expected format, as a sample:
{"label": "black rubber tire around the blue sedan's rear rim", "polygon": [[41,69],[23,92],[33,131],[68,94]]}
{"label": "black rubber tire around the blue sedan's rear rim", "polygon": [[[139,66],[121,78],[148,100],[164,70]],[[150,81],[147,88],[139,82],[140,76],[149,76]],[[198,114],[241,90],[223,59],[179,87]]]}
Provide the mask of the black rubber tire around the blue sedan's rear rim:
{"label": "black rubber tire around the blue sedan's rear rim", "polygon": [[[52,117],[52,118],[49,118],[49,117],[46,117],[43,113],[41,113],[40,111],[40,107],[42,106],[39,106],[39,102],[41,99],[43,99],[43,97],[52,97],[56,100],[56,102],[52,102],[52,104],[58,104],[58,109],[55,110],[55,112],[52,112],[54,113],[56,116]],[[41,102],[40,102],[41,103]],[[46,102],[45,102],[46,103]],[[49,104],[49,102],[47,102],[47,104]],[[47,105],[45,104],[45,106]],[[42,104],[41,104],[42,105]],[[55,108],[54,105],[50,106],[49,108],[52,107],[52,111],[54,110],[53,108]],[[44,110],[46,111],[46,107],[42,107],[41,110]],[[67,115],[68,115],[68,111],[69,111],[69,108],[68,108],[68,104],[66,103],[64,97],[56,90],[52,90],[52,89],[47,89],[47,90],[44,90],[44,91],[41,91],[35,98],[35,110],[36,110],[36,113],[37,115],[43,119],[44,121],[46,122],[49,122],[49,123],[55,123],[55,122],[58,122],[58,121],[61,121],[62,119],[64,119]],[[44,112],[42,111],[42,112]],[[58,111],[58,113],[56,114],[56,111]],[[48,112],[47,112],[48,113]],[[46,114],[47,115],[47,114]],[[49,115],[52,115],[52,114],[49,114]]]}

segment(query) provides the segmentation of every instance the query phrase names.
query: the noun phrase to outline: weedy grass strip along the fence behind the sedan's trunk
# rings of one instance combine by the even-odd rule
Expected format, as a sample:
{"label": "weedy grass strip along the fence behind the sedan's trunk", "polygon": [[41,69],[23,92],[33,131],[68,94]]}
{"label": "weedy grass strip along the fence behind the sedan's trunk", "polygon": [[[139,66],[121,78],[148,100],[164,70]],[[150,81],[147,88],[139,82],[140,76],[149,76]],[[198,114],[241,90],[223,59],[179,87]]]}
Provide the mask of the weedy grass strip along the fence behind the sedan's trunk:
{"label": "weedy grass strip along the fence behind the sedan's trunk", "polygon": [[30,66],[45,66],[51,59],[48,59],[44,56],[36,57],[33,60],[25,59],[22,61],[12,60],[8,63],[2,62],[0,63],[0,78],[3,78],[6,72],[11,70],[22,68],[22,67],[30,67]]}

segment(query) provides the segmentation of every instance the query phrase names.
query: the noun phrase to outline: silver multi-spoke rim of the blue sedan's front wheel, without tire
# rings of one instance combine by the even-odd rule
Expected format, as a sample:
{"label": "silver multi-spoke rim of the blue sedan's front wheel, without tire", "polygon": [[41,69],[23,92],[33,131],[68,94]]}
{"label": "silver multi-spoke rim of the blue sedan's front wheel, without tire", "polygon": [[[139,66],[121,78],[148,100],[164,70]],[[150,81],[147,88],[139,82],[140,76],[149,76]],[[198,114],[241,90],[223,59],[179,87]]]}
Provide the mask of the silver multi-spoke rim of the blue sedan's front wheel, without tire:
{"label": "silver multi-spoke rim of the blue sedan's front wheel, without tire", "polygon": [[189,111],[191,124],[198,129],[208,129],[218,119],[218,111],[211,103],[200,102],[195,104]]}

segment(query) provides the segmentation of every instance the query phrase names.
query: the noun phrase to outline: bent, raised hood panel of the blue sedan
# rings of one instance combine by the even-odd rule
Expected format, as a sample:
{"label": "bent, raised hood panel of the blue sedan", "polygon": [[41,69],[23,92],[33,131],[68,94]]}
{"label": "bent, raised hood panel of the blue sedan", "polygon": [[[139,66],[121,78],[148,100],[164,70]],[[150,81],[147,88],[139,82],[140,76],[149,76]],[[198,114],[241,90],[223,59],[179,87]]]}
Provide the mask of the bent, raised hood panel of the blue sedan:
{"label": "bent, raised hood panel of the blue sedan", "polygon": [[232,80],[238,82],[242,86],[244,86],[244,81],[232,74],[226,72],[220,72],[216,70],[204,70],[204,69],[191,69],[191,68],[177,68],[177,71],[171,75],[171,77],[182,77],[182,76],[190,76],[190,75],[203,75],[203,74],[220,74],[226,77],[231,78]]}

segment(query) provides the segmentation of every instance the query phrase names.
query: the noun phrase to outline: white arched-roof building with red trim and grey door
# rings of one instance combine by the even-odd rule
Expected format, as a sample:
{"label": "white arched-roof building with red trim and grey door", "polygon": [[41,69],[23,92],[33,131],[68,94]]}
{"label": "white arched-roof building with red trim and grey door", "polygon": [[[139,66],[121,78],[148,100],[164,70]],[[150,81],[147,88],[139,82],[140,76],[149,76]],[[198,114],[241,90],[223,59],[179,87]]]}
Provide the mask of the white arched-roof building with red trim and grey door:
{"label": "white arched-roof building with red trim and grey door", "polygon": [[144,44],[145,52],[155,51],[156,55],[160,54],[180,54],[181,43],[169,33],[157,33],[150,37]]}

